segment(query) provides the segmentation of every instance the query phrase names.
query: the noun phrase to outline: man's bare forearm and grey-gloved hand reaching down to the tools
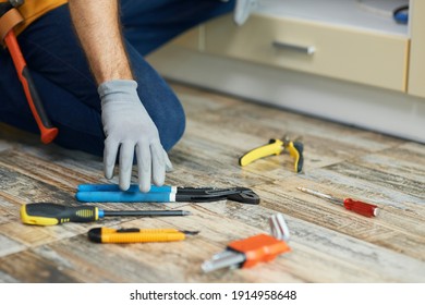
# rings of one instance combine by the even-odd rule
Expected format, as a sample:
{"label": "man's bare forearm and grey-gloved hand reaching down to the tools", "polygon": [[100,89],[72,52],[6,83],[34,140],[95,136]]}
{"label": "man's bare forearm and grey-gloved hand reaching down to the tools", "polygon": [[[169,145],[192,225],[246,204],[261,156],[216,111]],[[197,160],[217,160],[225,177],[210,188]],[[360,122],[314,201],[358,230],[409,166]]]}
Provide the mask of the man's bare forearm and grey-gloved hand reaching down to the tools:
{"label": "man's bare forearm and grey-gloved hand reaching down to the tools", "polygon": [[133,156],[136,152],[138,184],[143,192],[165,180],[171,163],[158,136],[158,130],[143,107],[125,52],[117,0],[70,0],[75,32],[99,85],[105,142],[105,175],[113,175],[120,150],[120,187],[130,186]]}

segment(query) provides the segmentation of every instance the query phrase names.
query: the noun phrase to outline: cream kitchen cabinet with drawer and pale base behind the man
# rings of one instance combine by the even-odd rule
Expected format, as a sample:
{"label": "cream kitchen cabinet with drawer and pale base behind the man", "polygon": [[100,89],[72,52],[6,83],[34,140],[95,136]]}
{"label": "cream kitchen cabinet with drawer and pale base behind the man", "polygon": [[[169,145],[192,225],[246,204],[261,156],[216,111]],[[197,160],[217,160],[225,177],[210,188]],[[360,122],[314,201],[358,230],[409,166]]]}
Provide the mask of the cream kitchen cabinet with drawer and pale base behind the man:
{"label": "cream kitchen cabinet with drawer and pale base behind the man", "polygon": [[425,143],[425,1],[409,24],[368,8],[405,0],[262,0],[149,60],[169,80]]}

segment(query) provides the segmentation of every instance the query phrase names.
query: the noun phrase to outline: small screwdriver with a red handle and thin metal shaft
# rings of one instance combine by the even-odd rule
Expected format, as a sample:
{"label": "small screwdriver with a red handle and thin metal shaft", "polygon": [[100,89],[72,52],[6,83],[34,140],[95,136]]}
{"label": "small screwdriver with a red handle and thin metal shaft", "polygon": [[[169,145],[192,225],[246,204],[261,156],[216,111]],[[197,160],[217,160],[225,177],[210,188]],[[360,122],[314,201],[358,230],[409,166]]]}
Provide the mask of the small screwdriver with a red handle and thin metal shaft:
{"label": "small screwdriver with a red handle and thin metal shaft", "polygon": [[305,187],[296,187],[298,190],[320,197],[328,199],[329,202],[343,206],[345,209],[351,210],[353,212],[360,213],[365,217],[375,217],[378,215],[379,208],[375,205],[371,205],[364,202],[360,200],[353,200],[352,198],[337,198],[328,194],[324,194],[314,190],[305,188]]}

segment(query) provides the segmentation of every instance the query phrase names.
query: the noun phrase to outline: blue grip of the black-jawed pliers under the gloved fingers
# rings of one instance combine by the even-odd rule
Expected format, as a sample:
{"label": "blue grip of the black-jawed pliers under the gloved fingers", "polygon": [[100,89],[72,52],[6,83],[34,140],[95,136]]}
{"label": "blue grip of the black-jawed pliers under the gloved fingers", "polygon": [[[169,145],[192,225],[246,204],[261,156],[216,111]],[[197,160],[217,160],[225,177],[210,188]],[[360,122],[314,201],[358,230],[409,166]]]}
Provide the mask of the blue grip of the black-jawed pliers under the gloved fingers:
{"label": "blue grip of the black-jawed pliers under the gloved fingers", "polygon": [[170,193],[163,192],[77,192],[75,198],[84,203],[171,203]]}

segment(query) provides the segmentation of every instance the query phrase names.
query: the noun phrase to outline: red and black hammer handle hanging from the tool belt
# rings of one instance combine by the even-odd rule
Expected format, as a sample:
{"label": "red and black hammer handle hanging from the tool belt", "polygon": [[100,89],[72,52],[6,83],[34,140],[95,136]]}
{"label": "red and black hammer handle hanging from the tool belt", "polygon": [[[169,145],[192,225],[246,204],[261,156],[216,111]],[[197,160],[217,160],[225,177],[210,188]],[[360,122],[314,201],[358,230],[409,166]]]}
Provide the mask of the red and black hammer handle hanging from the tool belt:
{"label": "red and black hammer handle hanging from the tool belt", "polygon": [[24,57],[22,56],[21,48],[17,45],[17,40],[13,29],[4,37],[5,45],[8,46],[9,52],[11,53],[13,63],[15,65],[17,76],[24,88],[26,99],[28,101],[33,117],[36,120],[38,129],[41,133],[41,142],[48,144],[54,139],[58,135],[58,129],[53,127],[50,123],[49,118],[42,107],[41,99],[34,85],[33,77],[31,76],[29,70],[26,66]]}

